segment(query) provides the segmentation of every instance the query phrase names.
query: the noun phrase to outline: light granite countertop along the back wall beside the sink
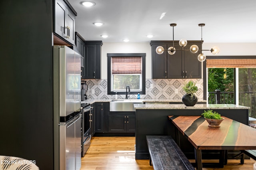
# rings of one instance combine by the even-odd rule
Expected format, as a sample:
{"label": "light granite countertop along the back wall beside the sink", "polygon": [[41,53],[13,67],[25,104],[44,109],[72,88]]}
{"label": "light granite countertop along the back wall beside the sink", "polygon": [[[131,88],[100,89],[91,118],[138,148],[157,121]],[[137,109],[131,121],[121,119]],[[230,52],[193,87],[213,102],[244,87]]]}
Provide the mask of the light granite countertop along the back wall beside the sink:
{"label": "light granite countertop along the back wall beside the sink", "polygon": [[[114,99],[88,99],[81,103],[110,102]],[[136,99],[118,99],[118,100],[136,100]],[[182,99],[140,99],[143,102],[182,102]],[[198,102],[206,102],[206,100],[198,99]]]}

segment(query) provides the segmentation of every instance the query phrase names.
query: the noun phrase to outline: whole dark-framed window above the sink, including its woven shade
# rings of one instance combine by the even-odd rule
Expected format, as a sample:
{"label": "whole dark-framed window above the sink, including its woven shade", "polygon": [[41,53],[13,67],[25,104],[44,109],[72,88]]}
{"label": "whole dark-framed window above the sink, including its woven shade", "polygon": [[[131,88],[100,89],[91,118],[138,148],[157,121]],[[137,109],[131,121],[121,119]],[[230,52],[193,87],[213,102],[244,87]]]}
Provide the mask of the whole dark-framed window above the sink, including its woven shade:
{"label": "whole dark-framed window above the sink, including its woven shade", "polygon": [[108,94],[145,94],[146,53],[108,53]]}

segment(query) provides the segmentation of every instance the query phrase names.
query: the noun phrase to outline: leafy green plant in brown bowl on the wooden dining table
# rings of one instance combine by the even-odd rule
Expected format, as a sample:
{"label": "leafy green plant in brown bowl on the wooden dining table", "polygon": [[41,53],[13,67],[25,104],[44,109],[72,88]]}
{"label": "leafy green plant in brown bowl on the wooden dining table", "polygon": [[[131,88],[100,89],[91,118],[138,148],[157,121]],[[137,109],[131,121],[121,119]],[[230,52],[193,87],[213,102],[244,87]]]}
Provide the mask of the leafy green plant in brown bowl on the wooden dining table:
{"label": "leafy green plant in brown bowl on the wooden dining table", "polygon": [[208,122],[208,127],[220,127],[220,123],[224,120],[218,112],[212,110],[204,111],[201,115]]}

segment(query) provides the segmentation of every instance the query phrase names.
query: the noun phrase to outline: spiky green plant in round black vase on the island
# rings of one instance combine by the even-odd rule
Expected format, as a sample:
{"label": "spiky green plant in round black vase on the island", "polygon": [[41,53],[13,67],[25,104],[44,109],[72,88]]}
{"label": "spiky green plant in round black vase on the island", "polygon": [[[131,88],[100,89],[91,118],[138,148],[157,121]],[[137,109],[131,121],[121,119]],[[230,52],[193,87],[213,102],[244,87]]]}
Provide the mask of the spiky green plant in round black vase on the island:
{"label": "spiky green plant in round black vase on the island", "polygon": [[182,87],[182,89],[186,92],[186,94],[182,97],[182,103],[184,103],[186,106],[194,106],[198,100],[194,94],[198,91],[196,83],[189,81]]}

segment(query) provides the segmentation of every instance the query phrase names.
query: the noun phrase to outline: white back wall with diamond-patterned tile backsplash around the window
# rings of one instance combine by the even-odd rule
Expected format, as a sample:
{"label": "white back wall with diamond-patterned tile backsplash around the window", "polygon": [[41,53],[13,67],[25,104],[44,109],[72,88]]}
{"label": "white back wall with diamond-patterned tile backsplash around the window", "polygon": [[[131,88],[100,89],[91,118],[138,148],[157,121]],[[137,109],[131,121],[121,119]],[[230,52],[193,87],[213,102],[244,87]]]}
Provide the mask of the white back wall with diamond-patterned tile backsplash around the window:
{"label": "white back wall with diamond-patterned tile backsplash around the window", "polygon": [[[203,43],[203,49],[211,49],[213,46],[220,48],[219,56],[224,55],[256,55],[256,43]],[[152,79],[151,69],[151,46],[147,43],[104,43],[101,55],[101,79],[86,80],[89,99],[114,99],[114,95],[108,95],[108,75],[107,75],[107,53],[146,53],[146,94],[141,95],[142,99],[181,99],[184,95],[182,85],[190,79]],[[212,55],[210,51],[204,54]],[[198,84],[198,99],[203,99],[203,79],[191,79]],[[153,88],[150,87],[153,84]],[[94,94],[92,94],[94,89]],[[178,89],[178,93],[175,93]],[[130,95],[131,99],[136,99],[136,95]],[[124,99],[125,95],[118,95],[119,99]]]}

